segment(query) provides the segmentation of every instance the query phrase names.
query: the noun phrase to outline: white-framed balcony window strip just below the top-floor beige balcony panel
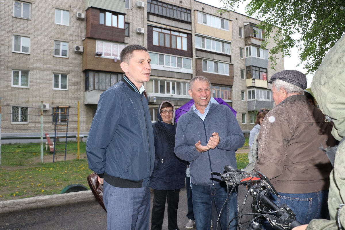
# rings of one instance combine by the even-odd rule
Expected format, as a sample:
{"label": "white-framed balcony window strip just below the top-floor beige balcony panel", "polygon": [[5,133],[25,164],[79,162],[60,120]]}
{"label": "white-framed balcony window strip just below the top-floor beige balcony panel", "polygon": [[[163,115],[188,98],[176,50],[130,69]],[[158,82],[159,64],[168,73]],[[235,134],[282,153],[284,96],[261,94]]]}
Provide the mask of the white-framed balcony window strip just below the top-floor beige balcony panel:
{"label": "white-framed balcony window strip just below the top-floor beige balcony panel", "polygon": [[210,38],[195,36],[195,47],[230,54],[230,43]]}

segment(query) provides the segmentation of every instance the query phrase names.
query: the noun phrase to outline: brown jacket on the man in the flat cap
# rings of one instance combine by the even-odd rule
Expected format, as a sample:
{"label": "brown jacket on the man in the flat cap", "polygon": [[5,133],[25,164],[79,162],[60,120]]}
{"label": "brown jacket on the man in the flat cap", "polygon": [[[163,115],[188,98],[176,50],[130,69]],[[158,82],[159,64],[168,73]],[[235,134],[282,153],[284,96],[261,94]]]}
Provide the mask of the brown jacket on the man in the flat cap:
{"label": "brown jacket on the man in the flat cap", "polygon": [[334,146],[334,138],[331,122],[324,120],[304,95],[286,98],[266,115],[254,169],[264,173],[277,192],[328,189],[332,165],[320,147]]}

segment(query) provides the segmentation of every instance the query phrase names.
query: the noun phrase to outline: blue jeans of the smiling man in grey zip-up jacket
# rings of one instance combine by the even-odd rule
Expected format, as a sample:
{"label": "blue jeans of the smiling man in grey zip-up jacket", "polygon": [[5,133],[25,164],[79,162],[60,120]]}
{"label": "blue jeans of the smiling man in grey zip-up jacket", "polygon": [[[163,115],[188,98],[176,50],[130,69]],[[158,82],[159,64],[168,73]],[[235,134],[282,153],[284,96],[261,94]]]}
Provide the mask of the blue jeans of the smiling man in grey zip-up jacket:
{"label": "blue jeans of the smiling man in grey zip-up jacket", "polygon": [[[231,188],[229,187],[229,191],[231,191]],[[218,214],[224,205],[219,218],[221,230],[227,229],[228,217],[230,221],[237,216],[237,198],[235,192],[229,195],[228,216],[227,202],[224,204],[227,199],[227,186],[225,182],[207,186],[192,183],[192,199],[195,225],[198,230],[210,230],[212,201],[215,203]],[[213,223],[213,225],[216,226],[216,223]],[[236,227],[237,218],[231,222],[229,229],[234,230]]]}

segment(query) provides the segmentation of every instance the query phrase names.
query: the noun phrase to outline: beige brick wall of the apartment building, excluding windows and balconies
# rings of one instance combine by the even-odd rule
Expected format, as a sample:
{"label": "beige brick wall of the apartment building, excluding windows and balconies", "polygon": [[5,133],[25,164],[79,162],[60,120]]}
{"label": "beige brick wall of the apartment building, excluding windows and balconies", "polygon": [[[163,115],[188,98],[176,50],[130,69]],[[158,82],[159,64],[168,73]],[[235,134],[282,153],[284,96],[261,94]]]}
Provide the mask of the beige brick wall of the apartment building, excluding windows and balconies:
{"label": "beige brick wall of the apartment building, excluding windows and balconies", "polygon": [[[69,132],[77,131],[77,102],[80,102],[80,131],[88,132],[96,104],[84,104],[85,72],[83,72],[83,59],[86,55],[74,52],[74,46],[90,46],[90,41],[85,38],[86,20],[77,19],[77,12],[85,13],[85,1],[61,0],[61,1],[38,1],[26,0],[30,3],[30,19],[13,16],[13,0],[6,0],[0,4],[1,29],[0,29],[0,97],[2,113],[3,133],[40,132],[40,103],[49,103],[50,107],[70,106]],[[16,1],[23,3],[21,1]],[[191,31],[193,36],[193,76],[197,75],[195,67],[195,20],[194,11],[205,12],[231,21],[232,38],[231,42],[231,63],[234,68],[234,83],[232,86],[232,107],[237,111],[237,120],[243,130],[252,129],[249,121],[247,99],[241,101],[241,91],[247,92],[246,81],[240,79],[240,69],[246,69],[245,59],[239,58],[239,48],[245,48],[244,38],[240,38],[238,27],[251,22],[258,24],[260,21],[254,18],[247,18],[243,14],[233,11],[217,13],[218,8],[209,6],[198,1],[165,1],[191,10]],[[129,9],[125,9],[125,22],[130,24],[129,37],[125,37],[126,44],[142,44],[147,47],[147,24],[148,11],[147,1],[144,8],[136,7],[137,1],[131,0]],[[55,10],[66,10],[69,12],[69,25],[55,23]],[[155,23],[151,23],[155,24]],[[159,25],[156,23],[156,25]],[[160,24],[164,27],[163,24]],[[145,33],[137,33],[137,27],[144,28]],[[166,26],[169,29],[185,32],[186,29]],[[187,31],[188,32],[188,31]],[[30,38],[30,52],[17,53],[13,50],[13,36]],[[54,41],[68,42],[68,57],[54,56]],[[93,48],[95,49],[93,43]],[[273,41],[269,43],[268,49],[274,46]],[[92,51],[93,52],[93,51]],[[84,56],[84,57],[83,57]],[[109,61],[109,64],[114,61]],[[116,63],[118,64],[118,63]],[[87,68],[86,68],[87,69]],[[114,69],[114,67],[112,67]],[[118,69],[115,68],[115,70]],[[270,69],[268,63],[268,79],[273,73],[284,69],[284,59],[278,59],[276,69]],[[29,71],[29,87],[12,86],[12,70]],[[99,69],[99,71],[102,69]],[[115,71],[114,70],[114,71]],[[103,70],[105,71],[105,70]],[[116,70],[117,71],[117,70]],[[53,74],[67,74],[67,90],[53,89]],[[179,79],[177,79],[179,80]],[[181,80],[186,81],[186,80]],[[226,85],[226,82],[224,82]],[[247,95],[247,93],[246,93]],[[170,97],[170,96],[169,96]],[[164,98],[164,97],[163,97]],[[171,98],[171,97],[170,97]],[[189,100],[189,99],[188,99]],[[273,102],[272,102],[273,103]],[[28,107],[28,122],[11,122],[11,107]],[[157,104],[151,104],[156,108]],[[52,110],[43,111],[43,132],[52,132],[54,126],[51,123]],[[246,114],[246,124],[242,124],[242,113]]]}

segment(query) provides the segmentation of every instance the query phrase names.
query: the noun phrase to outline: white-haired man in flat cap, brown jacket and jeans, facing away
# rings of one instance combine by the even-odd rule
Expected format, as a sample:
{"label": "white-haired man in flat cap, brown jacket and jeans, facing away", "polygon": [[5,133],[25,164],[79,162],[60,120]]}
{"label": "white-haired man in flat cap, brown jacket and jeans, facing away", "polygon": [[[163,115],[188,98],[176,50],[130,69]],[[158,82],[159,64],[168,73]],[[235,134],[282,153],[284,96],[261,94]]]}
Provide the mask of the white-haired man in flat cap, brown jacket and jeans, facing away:
{"label": "white-haired man in flat cap, brown jacket and jeans, facing away", "polygon": [[304,95],[305,74],[284,70],[273,74],[269,83],[276,107],[261,125],[254,169],[279,193],[272,196],[276,204],[286,203],[299,222],[327,219],[332,165],[321,148],[334,146],[332,124]]}

